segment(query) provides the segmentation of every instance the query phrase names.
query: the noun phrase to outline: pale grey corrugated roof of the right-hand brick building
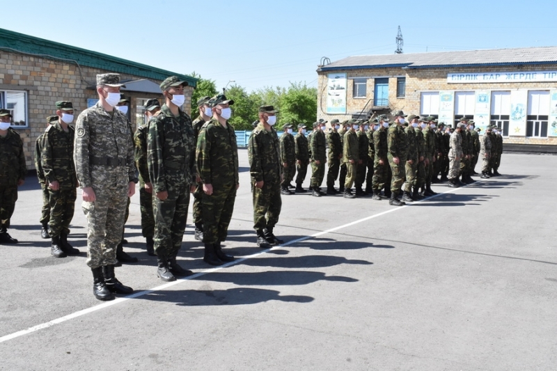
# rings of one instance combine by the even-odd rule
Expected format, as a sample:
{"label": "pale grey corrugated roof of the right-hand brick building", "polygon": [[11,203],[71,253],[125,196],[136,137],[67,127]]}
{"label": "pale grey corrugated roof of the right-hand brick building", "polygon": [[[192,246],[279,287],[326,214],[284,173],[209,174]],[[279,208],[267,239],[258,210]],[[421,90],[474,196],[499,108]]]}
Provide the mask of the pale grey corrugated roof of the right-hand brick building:
{"label": "pale grey corrugated roof of the right-hand brick building", "polygon": [[324,65],[317,71],[353,68],[433,68],[472,65],[514,65],[557,63],[557,47],[524,47],[510,49],[466,50],[464,52],[431,52],[349,56]]}

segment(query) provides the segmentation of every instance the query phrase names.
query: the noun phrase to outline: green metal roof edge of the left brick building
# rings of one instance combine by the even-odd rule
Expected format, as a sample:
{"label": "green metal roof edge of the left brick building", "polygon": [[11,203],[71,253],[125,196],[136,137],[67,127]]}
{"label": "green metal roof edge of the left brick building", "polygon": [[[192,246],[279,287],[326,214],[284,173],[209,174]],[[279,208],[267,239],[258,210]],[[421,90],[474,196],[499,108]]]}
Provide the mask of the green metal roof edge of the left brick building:
{"label": "green metal roof edge of the left brick building", "polygon": [[72,60],[76,61],[81,66],[99,68],[110,72],[132,74],[148,79],[164,80],[169,76],[178,76],[180,79],[187,81],[189,86],[197,86],[197,79],[186,74],[178,74],[150,65],[109,56],[108,54],[72,47],[70,45],[61,44],[60,42],[36,38],[6,29],[0,29],[0,49],[42,56],[45,58],[51,57],[54,59]]}

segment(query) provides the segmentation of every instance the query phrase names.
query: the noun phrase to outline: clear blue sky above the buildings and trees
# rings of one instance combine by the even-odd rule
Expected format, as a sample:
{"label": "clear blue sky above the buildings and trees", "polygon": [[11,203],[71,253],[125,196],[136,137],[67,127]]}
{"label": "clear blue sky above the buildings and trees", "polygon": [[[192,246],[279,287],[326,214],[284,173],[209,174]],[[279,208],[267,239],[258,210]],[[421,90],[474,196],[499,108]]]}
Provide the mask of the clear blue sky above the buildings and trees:
{"label": "clear blue sky above the buildings and trees", "polygon": [[248,91],[316,86],[322,56],[557,45],[555,0],[5,1],[0,27]]}

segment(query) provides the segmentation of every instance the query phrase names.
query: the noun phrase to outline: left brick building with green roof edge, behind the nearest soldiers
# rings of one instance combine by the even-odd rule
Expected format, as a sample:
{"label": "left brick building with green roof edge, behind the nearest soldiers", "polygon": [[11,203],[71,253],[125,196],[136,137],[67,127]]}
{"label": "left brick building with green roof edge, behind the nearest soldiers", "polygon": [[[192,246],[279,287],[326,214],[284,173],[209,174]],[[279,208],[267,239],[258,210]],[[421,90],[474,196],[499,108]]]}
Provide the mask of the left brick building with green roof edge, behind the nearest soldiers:
{"label": "left brick building with green roof edge, behind the nearest soldiers", "polygon": [[0,29],[0,108],[12,111],[27,168],[35,168],[35,141],[45,131],[46,117],[56,114],[54,103],[71,101],[77,117],[97,102],[96,74],[109,72],[119,73],[126,85],[121,91],[131,101],[127,114],[134,129],[143,123],[147,100],[158,98],[162,103],[159,84],[168,76],[188,81],[183,109],[191,110],[194,77]]}

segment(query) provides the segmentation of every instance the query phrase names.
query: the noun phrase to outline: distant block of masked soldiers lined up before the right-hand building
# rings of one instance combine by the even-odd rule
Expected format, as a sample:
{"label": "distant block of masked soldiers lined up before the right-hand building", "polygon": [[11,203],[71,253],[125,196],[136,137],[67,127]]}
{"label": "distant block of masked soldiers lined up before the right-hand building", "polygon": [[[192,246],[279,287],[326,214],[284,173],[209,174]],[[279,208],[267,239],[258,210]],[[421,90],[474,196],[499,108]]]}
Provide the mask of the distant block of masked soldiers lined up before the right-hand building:
{"label": "distant block of masked soldiers lined up before the right-hand building", "polygon": [[[480,129],[475,129],[473,120],[462,118],[459,125],[464,125],[465,129],[458,129],[460,125],[455,130],[432,116],[407,116],[402,111],[392,116],[392,122],[386,115],[342,123],[335,119],[331,120],[330,128],[327,128],[327,121],[320,120],[313,124],[313,131],[307,137],[306,125],[298,125],[296,136],[293,136],[292,125],[284,125],[280,138],[285,169],[281,193],[305,193],[301,184],[309,165],[312,170],[309,191],[313,196],[342,193],[345,198],[354,198],[372,194],[374,200],[389,198],[391,205],[404,205],[405,201],[434,195],[432,183],[448,182],[450,187],[460,187],[474,182],[471,176],[478,174],[474,168],[480,157],[483,161],[489,158],[482,177],[499,175],[497,170],[503,152],[501,129],[489,127],[483,135],[490,144],[489,155],[486,155],[486,151],[482,152],[486,140],[480,141]],[[462,155],[457,175],[449,177],[450,159],[455,157],[450,144],[454,132],[461,136]],[[323,192],[320,186],[324,180],[325,161],[329,170],[327,191]],[[293,186],[291,182],[296,171],[296,186]],[[334,187],[337,179],[338,189]],[[404,189],[402,184],[405,184]],[[400,193],[402,201],[398,199]]]}

